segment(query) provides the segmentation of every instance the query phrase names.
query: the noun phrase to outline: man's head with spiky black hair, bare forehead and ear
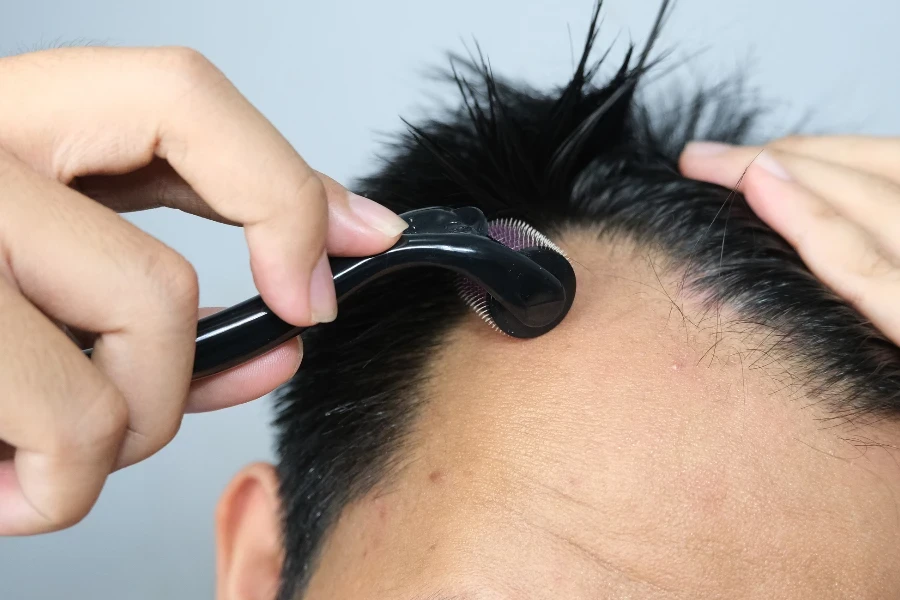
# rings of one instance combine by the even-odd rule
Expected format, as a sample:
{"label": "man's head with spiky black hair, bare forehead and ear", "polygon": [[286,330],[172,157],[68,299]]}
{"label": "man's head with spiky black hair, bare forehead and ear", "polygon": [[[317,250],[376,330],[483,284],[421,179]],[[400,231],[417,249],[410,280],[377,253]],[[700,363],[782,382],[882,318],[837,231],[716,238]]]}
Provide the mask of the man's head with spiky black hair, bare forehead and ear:
{"label": "man's head with spiky black hair, bare forehead and ear", "polygon": [[900,596],[900,351],[739,194],[679,174],[755,112],[723,87],[642,103],[657,31],[601,80],[595,14],[546,93],[455,61],[462,108],[361,182],[528,221],[575,303],[527,341],[442,271],[342,304],[279,393],[278,465],[223,497],[221,598]]}

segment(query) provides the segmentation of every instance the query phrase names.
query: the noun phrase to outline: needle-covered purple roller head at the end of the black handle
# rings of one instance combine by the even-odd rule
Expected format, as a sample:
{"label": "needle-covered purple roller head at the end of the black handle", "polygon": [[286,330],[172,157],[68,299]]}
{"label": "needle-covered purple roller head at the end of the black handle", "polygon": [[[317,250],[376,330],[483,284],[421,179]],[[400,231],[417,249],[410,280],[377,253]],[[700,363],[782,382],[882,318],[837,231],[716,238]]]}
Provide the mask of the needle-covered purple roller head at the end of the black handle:
{"label": "needle-covered purple roller head at the end of the black handle", "polygon": [[575,299],[575,271],[562,248],[531,225],[517,219],[498,219],[488,223],[488,236],[515,250],[549,271],[566,290],[566,301],[559,314],[546,325],[532,327],[522,323],[491,297],[484,288],[460,277],[457,290],[463,301],[495,331],[517,337],[533,338],[547,333],[562,321]]}

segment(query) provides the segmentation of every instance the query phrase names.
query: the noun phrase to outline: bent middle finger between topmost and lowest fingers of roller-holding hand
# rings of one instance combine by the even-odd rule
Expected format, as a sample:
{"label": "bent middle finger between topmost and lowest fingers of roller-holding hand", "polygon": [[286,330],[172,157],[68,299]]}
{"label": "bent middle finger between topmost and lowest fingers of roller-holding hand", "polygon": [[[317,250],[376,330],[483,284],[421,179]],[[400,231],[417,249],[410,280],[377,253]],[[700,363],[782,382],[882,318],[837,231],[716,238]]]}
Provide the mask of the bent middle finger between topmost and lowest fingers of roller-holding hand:
{"label": "bent middle finger between topmost and lowest fingers of roller-holding hand", "polygon": [[[0,189],[8,276],[49,317],[98,332],[93,367],[129,408],[119,465],[146,458],[175,435],[187,399],[197,323],[193,269],[114,212],[2,153]],[[33,368],[47,367],[35,361]]]}

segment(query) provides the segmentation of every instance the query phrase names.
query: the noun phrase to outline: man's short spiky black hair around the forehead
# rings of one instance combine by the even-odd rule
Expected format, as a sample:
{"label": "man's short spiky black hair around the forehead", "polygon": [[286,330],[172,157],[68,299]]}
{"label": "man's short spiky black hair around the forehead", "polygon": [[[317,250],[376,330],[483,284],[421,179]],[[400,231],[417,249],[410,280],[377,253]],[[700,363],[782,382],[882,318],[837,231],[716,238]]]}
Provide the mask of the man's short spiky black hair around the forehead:
{"label": "man's short spiky black hair around the forehead", "polygon": [[[474,205],[551,236],[572,226],[630,236],[664,251],[710,307],[728,303],[742,322],[774,332],[765,353],[802,359],[798,377],[830,399],[836,418],[896,415],[900,350],[816,280],[740,194],[678,172],[690,139],[746,141],[756,108],[745,106],[740,86],[657,110],[637,97],[668,1],[643,50],[631,46],[595,83],[605,66],[605,57],[592,60],[600,4],[574,75],[548,93],[495,77],[480,53],[451,57],[459,109],[410,125],[359,191],[398,212]],[[390,473],[423,401],[429,356],[466,313],[452,275],[404,272],[304,336],[303,365],[276,405],[282,600],[308,581],[344,506]]]}

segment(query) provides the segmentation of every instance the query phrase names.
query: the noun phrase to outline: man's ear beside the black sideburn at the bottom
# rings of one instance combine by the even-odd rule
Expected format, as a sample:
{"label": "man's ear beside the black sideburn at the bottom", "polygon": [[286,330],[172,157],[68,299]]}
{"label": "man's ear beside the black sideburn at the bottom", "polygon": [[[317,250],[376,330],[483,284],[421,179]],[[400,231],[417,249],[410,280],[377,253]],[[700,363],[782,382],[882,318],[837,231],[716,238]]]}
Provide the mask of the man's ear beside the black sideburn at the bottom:
{"label": "man's ear beside the black sideburn at the bottom", "polygon": [[218,600],[275,600],[284,562],[278,476],[272,465],[246,467],[216,510]]}

